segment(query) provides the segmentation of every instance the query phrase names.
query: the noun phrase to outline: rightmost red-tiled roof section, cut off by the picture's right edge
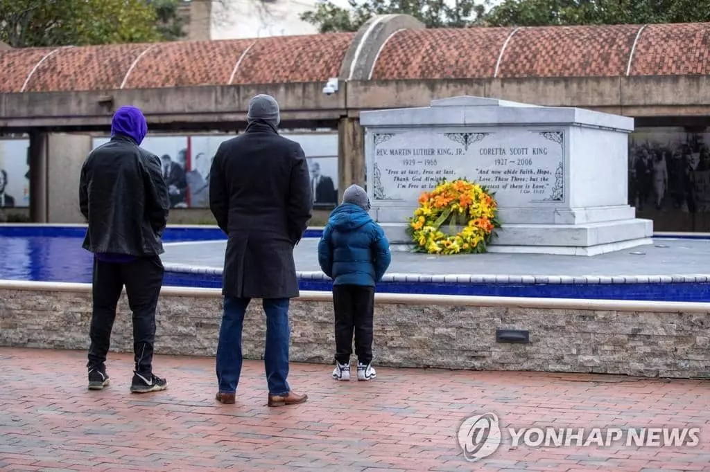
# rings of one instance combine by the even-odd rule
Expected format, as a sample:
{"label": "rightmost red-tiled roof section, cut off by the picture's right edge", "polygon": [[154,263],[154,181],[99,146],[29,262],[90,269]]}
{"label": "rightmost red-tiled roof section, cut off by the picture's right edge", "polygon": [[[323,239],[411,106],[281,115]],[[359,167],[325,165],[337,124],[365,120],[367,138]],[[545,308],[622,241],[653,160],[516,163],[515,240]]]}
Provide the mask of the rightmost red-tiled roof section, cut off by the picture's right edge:
{"label": "rightmost red-tiled roof section, cut off by the picture's right edge", "polygon": [[630,75],[710,74],[709,23],[648,25],[638,38]]}

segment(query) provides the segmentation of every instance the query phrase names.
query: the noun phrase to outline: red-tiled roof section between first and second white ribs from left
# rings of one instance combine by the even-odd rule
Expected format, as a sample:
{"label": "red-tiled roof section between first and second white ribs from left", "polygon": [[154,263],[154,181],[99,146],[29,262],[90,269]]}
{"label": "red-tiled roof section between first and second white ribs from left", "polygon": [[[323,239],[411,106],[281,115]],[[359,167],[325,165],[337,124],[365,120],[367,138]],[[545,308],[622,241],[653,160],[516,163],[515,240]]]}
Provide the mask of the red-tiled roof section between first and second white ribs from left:
{"label": "red-tiled roof section between first and second white ribs from left", "polygon": [[118,89],[146,44],[65,47],[48,57],[26,91]]}

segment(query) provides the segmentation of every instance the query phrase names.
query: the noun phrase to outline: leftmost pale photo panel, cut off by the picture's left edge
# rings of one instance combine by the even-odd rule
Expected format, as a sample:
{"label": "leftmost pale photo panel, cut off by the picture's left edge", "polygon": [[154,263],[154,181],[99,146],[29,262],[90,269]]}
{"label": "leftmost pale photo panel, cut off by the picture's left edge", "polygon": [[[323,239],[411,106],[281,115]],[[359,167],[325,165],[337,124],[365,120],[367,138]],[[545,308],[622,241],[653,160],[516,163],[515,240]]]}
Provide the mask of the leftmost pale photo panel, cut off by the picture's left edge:
{"label": "leftmost pale photo panel, cut off by the picture's left edge", "polygon": [[0,140],[0,208],[30,206],[30,140]]}

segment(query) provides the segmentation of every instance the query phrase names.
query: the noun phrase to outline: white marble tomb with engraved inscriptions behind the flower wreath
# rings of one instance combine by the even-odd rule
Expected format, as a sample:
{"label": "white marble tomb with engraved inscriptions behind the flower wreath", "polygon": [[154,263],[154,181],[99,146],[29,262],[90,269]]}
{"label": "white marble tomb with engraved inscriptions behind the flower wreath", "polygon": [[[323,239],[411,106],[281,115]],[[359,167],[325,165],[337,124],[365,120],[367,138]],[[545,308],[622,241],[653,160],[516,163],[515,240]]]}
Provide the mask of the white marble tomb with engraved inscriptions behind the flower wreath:
{"label": "white marble tomb with engraved inscriptions behind the flower wreath", "polygon": [[407,218],[442,177],[496,193],[503,227],[490,252],[595,255],[651,244],[628,205],[633,118],[475,96],[366,111],[371,214],[406,249]]}

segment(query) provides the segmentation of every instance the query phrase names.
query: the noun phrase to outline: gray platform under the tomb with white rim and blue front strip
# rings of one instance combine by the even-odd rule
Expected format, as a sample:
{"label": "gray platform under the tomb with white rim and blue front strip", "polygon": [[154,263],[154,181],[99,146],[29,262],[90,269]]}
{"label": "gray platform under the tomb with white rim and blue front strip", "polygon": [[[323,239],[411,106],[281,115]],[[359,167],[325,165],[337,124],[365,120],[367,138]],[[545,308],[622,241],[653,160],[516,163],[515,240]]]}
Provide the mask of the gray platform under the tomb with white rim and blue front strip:
{"label": "gray platform under the tomb with white rim and blue front strip", "polygon": [[[330,291],[317,237],[294,251],[301,290]],[[592,257],[550,254],[432,256],[393,252],[379,293],[710,302],[710,235],[654,237],[652,245]],[[163,264],[181,285],[222,286],[226,241],[165,243]]]}

